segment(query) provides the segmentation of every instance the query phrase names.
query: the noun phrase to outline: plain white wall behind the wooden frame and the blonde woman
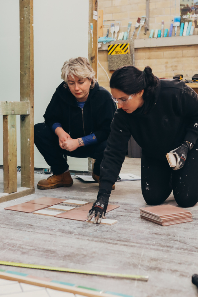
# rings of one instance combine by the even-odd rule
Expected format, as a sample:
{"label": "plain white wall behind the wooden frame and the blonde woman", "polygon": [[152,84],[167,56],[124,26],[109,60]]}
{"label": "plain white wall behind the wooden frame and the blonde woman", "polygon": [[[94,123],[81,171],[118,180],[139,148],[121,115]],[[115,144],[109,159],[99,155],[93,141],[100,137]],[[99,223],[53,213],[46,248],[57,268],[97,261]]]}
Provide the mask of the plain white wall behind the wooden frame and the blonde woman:
{"label": "plain white wall behind the wooden frame and the blonde woman", "polygon": [[[19,1],[0,1],[0,100],[20,101]],[[34,0],[34,123],[61,83],[64,61],[88,57],[88,0]],[[2,116],[1,116],[2,118]],[[20,165],[20,116],[17,116]],[[2,119],[0,164],[3,164]],[[70,170],[88,170],[88,159],[68,158]],[[36,168],[49,168],[35,147]]]}

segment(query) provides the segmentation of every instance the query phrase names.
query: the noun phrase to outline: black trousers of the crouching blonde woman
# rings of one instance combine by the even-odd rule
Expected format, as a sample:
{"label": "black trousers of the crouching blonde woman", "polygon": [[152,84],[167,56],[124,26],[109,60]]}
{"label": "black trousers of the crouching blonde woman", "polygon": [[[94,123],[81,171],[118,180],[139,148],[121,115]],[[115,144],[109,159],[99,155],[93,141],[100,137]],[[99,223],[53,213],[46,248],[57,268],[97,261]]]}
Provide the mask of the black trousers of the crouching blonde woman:
{"label": "black trousers of the crouching blonde woman", "polygon": [[39,123],[34,126],[34,143],[53,174],[61,174],[69,168],[67,158],[64,156],[70,156],[95,159],[93,171],[96,175],[100,175],[100,163],[107,140],[99,144],[79,147],[75,151],[66,151],[59,146],[58,136],[45,123]]}

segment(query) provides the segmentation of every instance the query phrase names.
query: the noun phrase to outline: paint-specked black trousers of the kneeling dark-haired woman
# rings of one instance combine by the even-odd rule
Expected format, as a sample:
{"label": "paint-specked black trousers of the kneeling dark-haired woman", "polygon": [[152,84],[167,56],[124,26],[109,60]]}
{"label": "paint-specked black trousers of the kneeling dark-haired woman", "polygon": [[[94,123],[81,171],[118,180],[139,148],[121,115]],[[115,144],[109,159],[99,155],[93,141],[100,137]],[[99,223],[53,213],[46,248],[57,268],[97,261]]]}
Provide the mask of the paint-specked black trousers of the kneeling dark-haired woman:
{"label": "paint-specked black trousers of the kneeling dark-haired woman", "polygon": [[191,207],[198,202],[198,141],[188,152],[181,169],[173,170],[168,161],[160,161],[142,154],[141,186],[144,200],[149,205],[163,203],[171,194],[180,207]]}

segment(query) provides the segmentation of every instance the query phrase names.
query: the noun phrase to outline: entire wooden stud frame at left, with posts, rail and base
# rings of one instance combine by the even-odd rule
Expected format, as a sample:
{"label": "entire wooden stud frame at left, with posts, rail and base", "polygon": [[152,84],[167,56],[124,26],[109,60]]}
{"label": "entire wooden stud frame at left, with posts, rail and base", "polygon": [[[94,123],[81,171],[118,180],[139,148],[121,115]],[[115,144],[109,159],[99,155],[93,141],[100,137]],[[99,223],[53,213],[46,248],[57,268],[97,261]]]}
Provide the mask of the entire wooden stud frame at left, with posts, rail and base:
{"label": "entire wooden stud frame at left, with posts, rail and base", "polygon": [[[0,102],[3,115],[4,193],[0,203],[34,193],[33,0],[20,4],[20,102]],[[20,115],[21,187],[17,189],[16,115]]]}

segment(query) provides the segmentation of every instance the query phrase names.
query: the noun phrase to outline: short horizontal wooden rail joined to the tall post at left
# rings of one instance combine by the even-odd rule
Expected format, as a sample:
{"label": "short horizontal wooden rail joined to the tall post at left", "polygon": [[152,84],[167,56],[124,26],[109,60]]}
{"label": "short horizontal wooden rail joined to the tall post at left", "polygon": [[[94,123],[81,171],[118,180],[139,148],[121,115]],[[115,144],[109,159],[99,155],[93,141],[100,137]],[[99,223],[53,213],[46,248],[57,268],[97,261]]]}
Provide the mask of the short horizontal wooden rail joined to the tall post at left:
{"label": "short horizontal wooden rail joined to the tall post at left", "polygon": [[0,115],[30,114],[30,103],[0,101]]}

